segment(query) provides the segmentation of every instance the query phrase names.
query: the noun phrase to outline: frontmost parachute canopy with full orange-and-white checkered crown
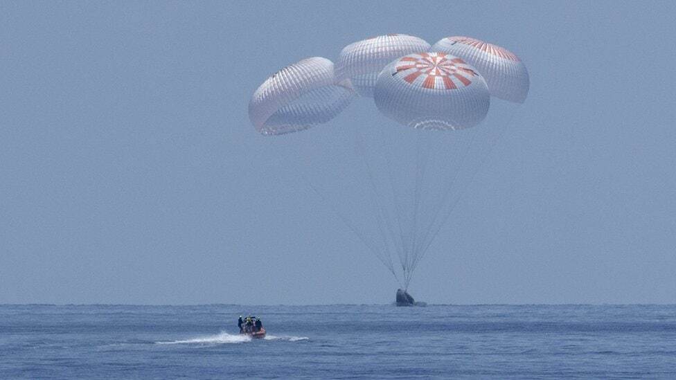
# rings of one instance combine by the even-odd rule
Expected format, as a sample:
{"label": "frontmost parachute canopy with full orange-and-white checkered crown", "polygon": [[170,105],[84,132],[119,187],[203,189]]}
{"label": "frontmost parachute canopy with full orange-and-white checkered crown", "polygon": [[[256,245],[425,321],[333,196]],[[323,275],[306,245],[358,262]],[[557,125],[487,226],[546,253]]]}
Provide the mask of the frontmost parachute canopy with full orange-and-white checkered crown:
{"label": "frontmost parachute canopy with full orange-and-white checkered crown", "polygon": [[378,75],[373,98],[389,118],[422,129],[473,127],[490,105],[488,87],[477,70],[445,53],[394,60]]}

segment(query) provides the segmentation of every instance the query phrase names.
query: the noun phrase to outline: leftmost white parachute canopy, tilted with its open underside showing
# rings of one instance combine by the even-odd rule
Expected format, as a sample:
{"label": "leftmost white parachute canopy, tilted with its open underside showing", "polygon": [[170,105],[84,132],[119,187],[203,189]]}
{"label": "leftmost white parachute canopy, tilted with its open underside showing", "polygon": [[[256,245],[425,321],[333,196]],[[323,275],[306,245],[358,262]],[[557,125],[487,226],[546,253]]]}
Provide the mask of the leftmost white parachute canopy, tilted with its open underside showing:
{"label": "leftmost white parachute canopy, tilted with its open underside showing", "polygon": [[306,58],[274,73],[258,87],[249,101],[249,118],[261,134],[287,134],[335,118],[354,95],[349,83],[337,81],[333,62]]}

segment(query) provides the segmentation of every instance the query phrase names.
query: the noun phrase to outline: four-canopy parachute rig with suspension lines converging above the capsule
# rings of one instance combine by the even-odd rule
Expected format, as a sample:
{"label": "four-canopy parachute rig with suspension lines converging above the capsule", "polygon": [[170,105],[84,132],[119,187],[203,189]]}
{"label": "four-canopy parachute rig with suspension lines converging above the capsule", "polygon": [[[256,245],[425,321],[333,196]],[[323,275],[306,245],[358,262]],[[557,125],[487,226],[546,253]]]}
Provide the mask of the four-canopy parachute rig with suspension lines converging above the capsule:
{"label": "four-canopy parachute rig with suspension lines converging above the capsule", "polygon": [[[304,132],[294,141],[301,149],[328,152],[339,146],[332,138],[352,127],[356,150],[343,152],[341,161],[364,180],[332,176],[343,182],[331,196],[312,181],[308,185],[405,291],[509,123],[502,116],[490,120],[491,98],[522,103],[528,87],[526,66],[500,46],[470,37],[447,37],[430,46],[411,35],[382,35],[346,46],[335,66],[312,57],[278,71],[253,93],[249,117],[258,132],[275,136],[328,123],[357,94],[373,98],[382,122]],[[314,158],[312,165],[319,165]],[[362,186],[357,192],[367,198],[364,207],[350,208],[362,216],[350,217],[340,207],[351,201],[337,199],[347,183]]]}

